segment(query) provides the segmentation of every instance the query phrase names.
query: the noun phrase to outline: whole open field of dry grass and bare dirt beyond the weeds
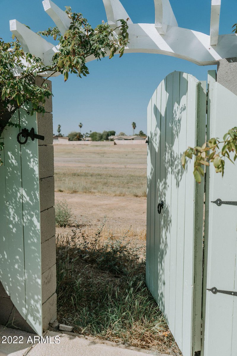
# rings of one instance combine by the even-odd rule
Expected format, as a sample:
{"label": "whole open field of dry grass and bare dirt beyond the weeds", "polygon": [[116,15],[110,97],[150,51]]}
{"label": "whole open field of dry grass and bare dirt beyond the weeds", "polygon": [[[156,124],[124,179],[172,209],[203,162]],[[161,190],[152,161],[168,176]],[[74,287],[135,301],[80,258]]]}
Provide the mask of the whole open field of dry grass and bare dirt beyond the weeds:
{"label": "whole open field of dry grass and bare dirt beyond the weeds", "polygon": [[[66,200],[88,233],[146,236],[146,145],[54,146],[55,202]],[[65,234],[70,228],[58,228]]]}

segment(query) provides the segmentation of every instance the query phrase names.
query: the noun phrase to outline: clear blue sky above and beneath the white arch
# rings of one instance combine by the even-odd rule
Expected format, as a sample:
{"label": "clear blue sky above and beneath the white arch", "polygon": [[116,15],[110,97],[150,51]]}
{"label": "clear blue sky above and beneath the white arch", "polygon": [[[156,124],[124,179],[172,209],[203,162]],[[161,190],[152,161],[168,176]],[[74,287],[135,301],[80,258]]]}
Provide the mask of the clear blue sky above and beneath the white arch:
{"label": "clear blue sky above and beneath the white arch", "polygon": [[[55,0],[61,9],[70,5],[75,12],[82,12],[92,26],[106,21],[102,0]],[[131,20],[154,23],[153,0],[121,0]],[[211,0],[170,0],[180,27],[209,33]],[[44,12],[41,0],[0,0],[0,37],[11,40],[9,20],[17,19],[33,31],[44,30],[54,23]],[[220,34],[231,33],[237,22],[237,1],[222,0]],[[158,54],[124,54],[122,58],[104,58],[101,62],[88,63],[90,75],[77,78],[71,75],[66,83],[62,76],[53,78],[54,133],[58,124],[62,133],[115,130],[132,133],[146,132],[146,109],[153,91],[170,72],[180,70],[199,80],[206,80],[207,71],[216,66],[197,66],[182,59]]]}

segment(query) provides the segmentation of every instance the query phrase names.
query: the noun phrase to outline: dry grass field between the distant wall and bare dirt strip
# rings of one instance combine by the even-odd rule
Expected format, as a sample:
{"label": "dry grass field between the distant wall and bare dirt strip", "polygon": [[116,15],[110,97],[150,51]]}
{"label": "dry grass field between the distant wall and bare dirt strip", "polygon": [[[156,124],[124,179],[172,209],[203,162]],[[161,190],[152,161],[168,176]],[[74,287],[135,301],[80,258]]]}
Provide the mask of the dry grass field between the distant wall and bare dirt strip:
{"label": "dry grass field between the distant wall and bare dirt strip", "polygon": [[146,196],[146,145],[55,145],[55,191]]}

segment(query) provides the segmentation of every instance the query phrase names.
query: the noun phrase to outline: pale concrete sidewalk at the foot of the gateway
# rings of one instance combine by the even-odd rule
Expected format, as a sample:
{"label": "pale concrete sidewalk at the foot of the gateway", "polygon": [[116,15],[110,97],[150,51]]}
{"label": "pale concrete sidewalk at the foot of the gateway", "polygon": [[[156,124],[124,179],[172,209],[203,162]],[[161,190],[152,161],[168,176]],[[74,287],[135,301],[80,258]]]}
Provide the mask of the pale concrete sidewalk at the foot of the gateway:
{"label": "pale concrete sidewalk at the foot of the gateway", "polygon": [[167,356],[140,352],[124,345],[80,335],[74,336],[72,333],[68,335],[47,331],[39,342],[34,338],[38,336],[0,326],[0,356],[148,356],[149,354]]}

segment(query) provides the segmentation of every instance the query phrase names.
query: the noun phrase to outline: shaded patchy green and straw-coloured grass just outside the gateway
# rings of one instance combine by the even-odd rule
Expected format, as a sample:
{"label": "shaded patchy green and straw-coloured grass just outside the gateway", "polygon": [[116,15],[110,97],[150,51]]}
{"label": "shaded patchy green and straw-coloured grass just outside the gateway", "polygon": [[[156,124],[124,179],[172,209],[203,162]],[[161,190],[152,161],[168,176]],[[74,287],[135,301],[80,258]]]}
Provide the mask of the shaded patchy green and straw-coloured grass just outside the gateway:
{"label": "shaded patchy green and straw-coloured grass just outside the gateway", "polygon": [[57,239],[58,319],[76,333],[180,355],[145,284],[145,260],[127,234],[102,239],[81,229]]}

